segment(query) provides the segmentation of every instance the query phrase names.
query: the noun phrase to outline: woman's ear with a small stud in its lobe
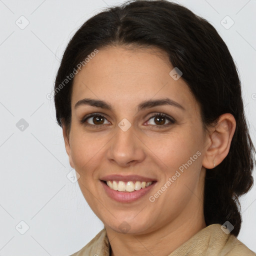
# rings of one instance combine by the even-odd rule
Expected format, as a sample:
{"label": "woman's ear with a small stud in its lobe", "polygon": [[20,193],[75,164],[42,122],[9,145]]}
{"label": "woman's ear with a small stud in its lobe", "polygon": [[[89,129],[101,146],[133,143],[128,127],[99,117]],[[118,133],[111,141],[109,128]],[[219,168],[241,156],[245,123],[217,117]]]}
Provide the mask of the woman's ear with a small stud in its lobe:
{"label": "woman's ear with a small stud in its lobe", "polygon": [[205,154],[202,166],[214,168],[226,157],[235,131],[236,122],[232,114],[224,113],[219,116],[217,123],[209,128],[205,140]]}

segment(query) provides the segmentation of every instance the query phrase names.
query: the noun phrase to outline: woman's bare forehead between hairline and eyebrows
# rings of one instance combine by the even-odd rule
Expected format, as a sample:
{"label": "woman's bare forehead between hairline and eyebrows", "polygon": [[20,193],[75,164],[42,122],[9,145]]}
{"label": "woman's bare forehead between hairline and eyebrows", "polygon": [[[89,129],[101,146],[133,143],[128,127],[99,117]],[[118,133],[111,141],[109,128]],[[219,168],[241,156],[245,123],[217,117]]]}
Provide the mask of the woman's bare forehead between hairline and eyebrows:
{"label": "woman's bare forehead between hairline and eyebrows", "polygon": [[99,49],[74,77],[72,107],[85,97],[119,101],[122,106],[163,96],[188,103],[193,96],[181,78],[169,75],[172,69],[168,55],[156,47]]}

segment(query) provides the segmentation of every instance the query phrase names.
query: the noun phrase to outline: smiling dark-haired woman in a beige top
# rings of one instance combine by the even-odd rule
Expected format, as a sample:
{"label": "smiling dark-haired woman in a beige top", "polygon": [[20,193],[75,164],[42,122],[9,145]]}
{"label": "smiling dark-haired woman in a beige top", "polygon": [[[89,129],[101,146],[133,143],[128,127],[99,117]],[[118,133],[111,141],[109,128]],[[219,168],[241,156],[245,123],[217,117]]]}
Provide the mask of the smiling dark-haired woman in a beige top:
{"label": "smiling dark-haired woman in a beige top", "polygon": [[137,0],[69,41],[56,118],[104,223],[72,255],[255,255],[237,239],[254,147],[227,46],[206,20]]}

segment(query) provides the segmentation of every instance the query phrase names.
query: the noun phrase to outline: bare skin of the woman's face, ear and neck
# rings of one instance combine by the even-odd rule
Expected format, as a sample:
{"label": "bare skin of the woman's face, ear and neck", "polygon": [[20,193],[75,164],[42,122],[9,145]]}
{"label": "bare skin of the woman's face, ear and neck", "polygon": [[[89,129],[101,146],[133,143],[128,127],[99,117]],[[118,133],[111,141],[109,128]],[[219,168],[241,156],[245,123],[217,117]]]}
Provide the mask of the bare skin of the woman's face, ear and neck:
{"label": "bare skin of the woman's face, ear and neck", "polygon": [[[157,48],[111,46],[99,49],[74,77],[71,128],[62,126],[65,148],[71,167],[80,175],[84,198],[104,223],[112,256],[168,255],[206,226],[205,168],[213,168],[213,160],[217,165],[227,155],[235,120],[229,113],[222,114],[215,126],[205,130],[198,102],[182,76],[174,80],[169,75],[172,69],[168,56]],[[144,100],[166,97],[184,109],[173,105],[137,109]],[[104,100],[112,110],[85,104],[74,108],[83,98]],[[93,127],[79,122],[96,112],[105,117],[103,124],[95,124],[92,118],[87,123]],[[164,126],[159,128],[151,117],[158,112],[175,122],[163,118]],[[126,131],[118,126],[123,118],[131,123]],[[197,151],[198,158],[150,202],[148,197]],[[99,180],[108,174],[138,174],[157,183],[142,199],[120,203],[107,196]],[[120,224],[129,230],[121,230]]]}

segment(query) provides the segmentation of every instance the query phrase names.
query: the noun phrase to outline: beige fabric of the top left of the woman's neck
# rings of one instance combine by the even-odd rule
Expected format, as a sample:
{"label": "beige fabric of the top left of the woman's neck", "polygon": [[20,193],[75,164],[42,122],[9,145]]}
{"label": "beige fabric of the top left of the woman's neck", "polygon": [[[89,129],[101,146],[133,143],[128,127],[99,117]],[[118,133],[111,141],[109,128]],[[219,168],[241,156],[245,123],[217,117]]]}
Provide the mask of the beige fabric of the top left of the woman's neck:
{"label": "beige fabric of the top left of the woman's neck", "polygon": [[103,228],[84,247],[70,256],[109,256],[109,241]]}

